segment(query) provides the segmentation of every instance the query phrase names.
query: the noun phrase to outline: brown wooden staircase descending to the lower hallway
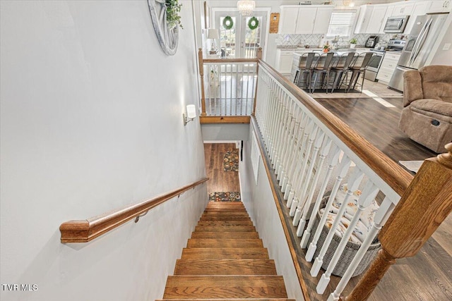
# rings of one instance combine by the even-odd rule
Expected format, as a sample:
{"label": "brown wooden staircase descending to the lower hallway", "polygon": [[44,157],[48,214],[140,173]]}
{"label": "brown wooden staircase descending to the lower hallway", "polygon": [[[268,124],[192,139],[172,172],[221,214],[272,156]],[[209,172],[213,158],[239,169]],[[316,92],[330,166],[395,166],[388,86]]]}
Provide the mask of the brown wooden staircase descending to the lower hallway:
{"label": "brown wooden staircase descending to the lower hallway", "polygon": [[209,202],[162,300],[289,300],[242,202]]}

